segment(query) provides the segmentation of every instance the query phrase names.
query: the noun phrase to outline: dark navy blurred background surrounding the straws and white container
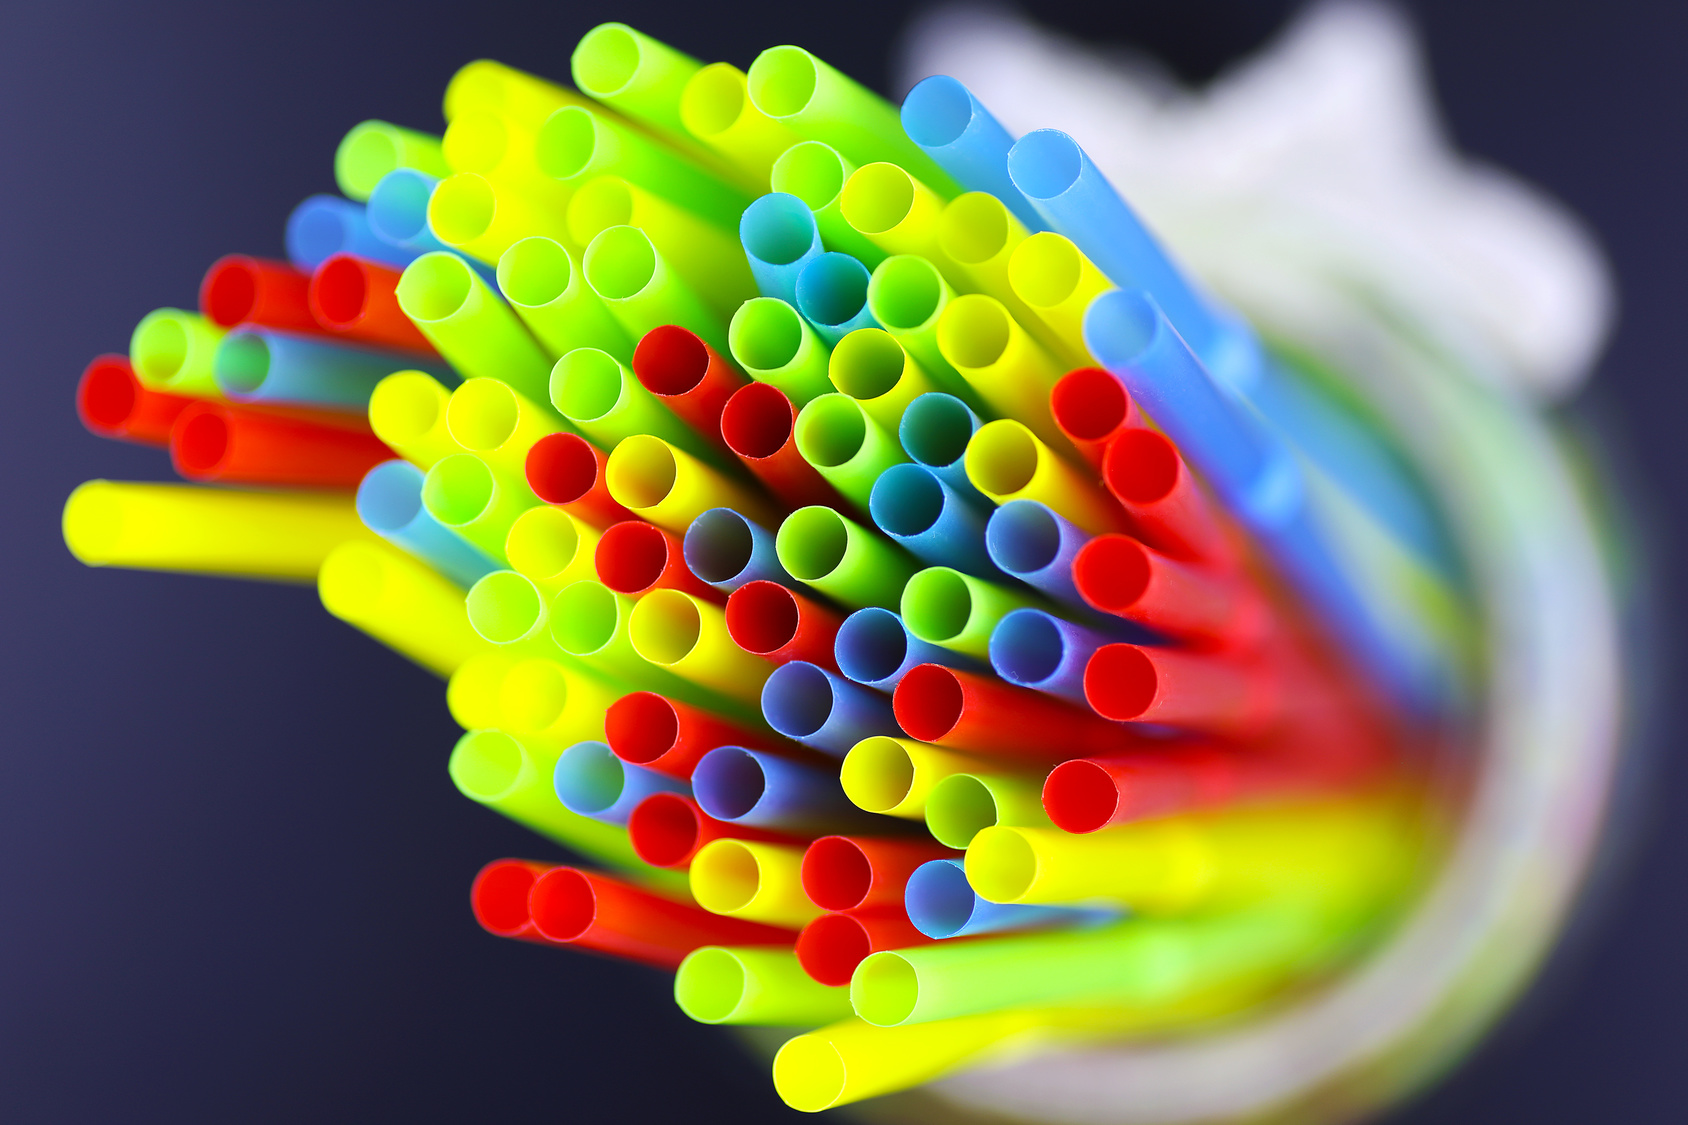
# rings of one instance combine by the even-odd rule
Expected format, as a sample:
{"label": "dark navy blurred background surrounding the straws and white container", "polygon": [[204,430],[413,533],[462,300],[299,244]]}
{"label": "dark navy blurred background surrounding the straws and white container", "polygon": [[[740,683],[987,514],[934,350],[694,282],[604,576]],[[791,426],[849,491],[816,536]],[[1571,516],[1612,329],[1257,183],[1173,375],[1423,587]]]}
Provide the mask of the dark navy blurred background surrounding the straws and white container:
{"label": "dark navy blurred background surrounding the straws and white container", "polygon": [[[1200,83],[1296,8],[1045,0],[1035,15]],[[1455,144],[1556,196],[1610,257],[1617,328],[1572,409],[1605,436],[1668,579],[1688,508],[1688,8],[1404,8]],[[0,1117],[800,1118],[761,1062],[675,1010],[667,976],[479,931],[474,872],[550,853],[451,785],[439,681],[307,588],[84,569],[57,519],[84,478],[169,476],[162,453],[83,432],[83,365],[125,350],[149,309],[191,304],[218,255],[280,257],[282,218],[333,191],[354,122],[437,130],[444,83],[473,57],[565,79],[576,39],[606,19],[739,66],[803,44],[890,91],[913,15],[881,0],[844,15],[672,0],[5,14]],[[1656,586],[1653,640],[1680,632]],[[1654,720],[1651,745],[1685,733]],[[1607,875],[1541,986],[1391,1120],[1688,1120],[1688,823],[1669,814],[1688,772],[1659,753],[1631,787]]]}

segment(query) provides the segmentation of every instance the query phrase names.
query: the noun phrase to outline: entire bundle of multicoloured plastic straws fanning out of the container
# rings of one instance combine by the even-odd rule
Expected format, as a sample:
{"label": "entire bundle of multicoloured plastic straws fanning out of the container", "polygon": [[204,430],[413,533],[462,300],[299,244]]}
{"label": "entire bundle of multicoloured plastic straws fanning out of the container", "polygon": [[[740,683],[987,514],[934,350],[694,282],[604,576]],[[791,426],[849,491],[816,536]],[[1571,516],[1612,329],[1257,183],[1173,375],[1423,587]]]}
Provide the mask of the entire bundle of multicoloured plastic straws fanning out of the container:
{"label": "entire bundle of multicoloured plastic straws fanning out of the container", "polygon": [[71,551],[316,581],[447,677],[456,785],[576,856],[479,922],[798,1029],[800,1110],[1357,956],[1457,682],[1381,434],[954,79],[621,24],[572,78],[358,125],[287,260],[96,358],[88,427],[194,483],[83,485]]}

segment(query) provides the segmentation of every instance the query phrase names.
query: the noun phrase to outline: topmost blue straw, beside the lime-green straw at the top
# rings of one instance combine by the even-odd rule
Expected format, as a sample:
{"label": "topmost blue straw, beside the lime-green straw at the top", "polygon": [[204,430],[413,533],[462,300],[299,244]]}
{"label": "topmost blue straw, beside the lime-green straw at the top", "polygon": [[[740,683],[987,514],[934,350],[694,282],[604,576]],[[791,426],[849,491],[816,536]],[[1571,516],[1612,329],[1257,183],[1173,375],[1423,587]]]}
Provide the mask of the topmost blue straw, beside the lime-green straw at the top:
{"label": "topmost blue straw, beside the lime-green straw at the top", "polygon": [[967,191],[989,191],[1030,230],[1043,216],[1008,176],[1014,139],[972,91],[949,74],[920,81],[903,98],[903,132]]}

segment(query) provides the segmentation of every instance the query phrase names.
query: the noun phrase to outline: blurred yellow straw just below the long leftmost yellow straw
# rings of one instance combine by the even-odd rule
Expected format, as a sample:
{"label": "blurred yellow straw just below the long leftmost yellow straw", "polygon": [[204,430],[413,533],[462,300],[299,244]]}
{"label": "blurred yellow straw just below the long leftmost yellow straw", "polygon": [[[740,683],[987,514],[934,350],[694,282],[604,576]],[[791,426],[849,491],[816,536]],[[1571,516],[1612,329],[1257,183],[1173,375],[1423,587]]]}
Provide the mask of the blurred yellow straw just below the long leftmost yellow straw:
{"label": "blurred yellow straw just below the long leftmost yellow straw", "polygon": [[463,588],[397,547],[348,541],[322,557],[322,608],[436,676],[451,676],[486,642],[469,628]]}

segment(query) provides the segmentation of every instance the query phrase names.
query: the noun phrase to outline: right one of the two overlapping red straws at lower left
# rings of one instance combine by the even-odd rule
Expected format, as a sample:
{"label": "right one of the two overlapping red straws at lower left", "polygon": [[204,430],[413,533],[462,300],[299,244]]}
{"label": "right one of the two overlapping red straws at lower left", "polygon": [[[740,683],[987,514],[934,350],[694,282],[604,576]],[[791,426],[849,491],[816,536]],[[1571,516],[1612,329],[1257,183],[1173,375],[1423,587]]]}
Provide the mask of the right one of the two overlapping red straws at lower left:
{"label": "right one of the two overlapping red straws at lower left", "polygon": [[533,882],[528,912],[542,938],[674,970],[699,946],[787,946],[788,929],[711,914],[638,887],[554,867]]}

